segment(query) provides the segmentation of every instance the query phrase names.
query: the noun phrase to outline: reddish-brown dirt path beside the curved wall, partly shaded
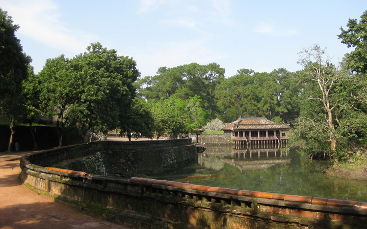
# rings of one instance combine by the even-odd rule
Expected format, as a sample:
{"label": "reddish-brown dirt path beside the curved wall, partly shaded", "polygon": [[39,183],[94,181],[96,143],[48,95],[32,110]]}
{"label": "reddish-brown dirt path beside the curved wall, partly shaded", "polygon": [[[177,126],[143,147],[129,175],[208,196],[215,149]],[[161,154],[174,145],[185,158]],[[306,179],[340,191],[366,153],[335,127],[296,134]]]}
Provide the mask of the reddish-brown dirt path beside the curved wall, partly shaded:
{"label": "reddish-brown dirt path beside the curved wall, partly shaded", "polygon": [[93,218],[21,185],[23,154],[0,154],[0,228],[129,228]]}

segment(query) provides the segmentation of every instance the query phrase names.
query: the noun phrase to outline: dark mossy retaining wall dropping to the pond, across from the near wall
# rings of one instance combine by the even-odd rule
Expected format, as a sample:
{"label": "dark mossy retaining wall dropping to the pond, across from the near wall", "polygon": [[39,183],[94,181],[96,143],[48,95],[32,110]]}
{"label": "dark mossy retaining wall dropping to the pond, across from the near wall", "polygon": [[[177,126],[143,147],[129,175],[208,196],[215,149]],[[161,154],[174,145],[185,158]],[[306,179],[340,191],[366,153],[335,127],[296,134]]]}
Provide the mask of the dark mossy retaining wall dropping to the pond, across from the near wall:
{"label": "dark mossy retaining wall dropping to the pond, across from the near wall", "polygon": [[[197,162],[191,139],[162,141],[97,141],[45,151],[36,164],[88,174],[130,178],[163,173]],[[42,158],[42,160],[41,160]],[[47,159],[46,159],[47,158]]]}

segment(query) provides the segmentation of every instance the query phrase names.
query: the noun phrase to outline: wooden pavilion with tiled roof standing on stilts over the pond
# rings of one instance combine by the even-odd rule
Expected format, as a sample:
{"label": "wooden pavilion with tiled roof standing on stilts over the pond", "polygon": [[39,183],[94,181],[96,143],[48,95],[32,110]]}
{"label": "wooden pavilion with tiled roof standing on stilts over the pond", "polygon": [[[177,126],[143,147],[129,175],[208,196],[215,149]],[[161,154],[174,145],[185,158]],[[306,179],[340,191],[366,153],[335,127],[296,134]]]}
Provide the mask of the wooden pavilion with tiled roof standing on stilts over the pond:
{"label": "wooden pavilion with tiled roof standing on stilts over the pond", "polygon": [[222,128],[224,133],[232,134],[236,146],[286,144],[288,124],[275,123],[265,117],[239,118]]}

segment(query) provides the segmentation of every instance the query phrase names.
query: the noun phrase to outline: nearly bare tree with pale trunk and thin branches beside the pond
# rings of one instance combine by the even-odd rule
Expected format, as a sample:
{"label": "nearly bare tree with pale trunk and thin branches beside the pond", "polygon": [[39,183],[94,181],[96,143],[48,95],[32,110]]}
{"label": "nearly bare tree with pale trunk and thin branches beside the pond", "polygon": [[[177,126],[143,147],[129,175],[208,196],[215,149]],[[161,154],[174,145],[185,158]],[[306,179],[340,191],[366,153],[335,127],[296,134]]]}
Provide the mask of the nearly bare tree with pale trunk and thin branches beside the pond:
{"label": "nearly bare tree with pale trunk and thin branches beside the pond", "polygon": [[[315,82],[318,91],[309,95],[309,99],[318,100],[321,102],[321,107],[325,111],[325,119],[327,126],[318,124],[315,120],[310,119],[310,123],[319,129],[320,126],[324,128],[324,131],[319,131],[327,135],[327,139],[330,142],[331,159],[336,164],[337,158],[337,134],[335,131],[335,117],[333,109],[340,104],[331,101],[332,90],[335,87],[335,83],[339,80],[339,71],[330,63],[330,59],[325,50],[321,49],[319,45],[314,45],[309,49],[304,49],[300,52],[301,59],[299,64],[304,66],[303,80],[305,82]],[[314,110],[314,109],[312,109]],[[299,128],[302,128],[299,126]],[[322,139],[322,138],[319,138]]]}

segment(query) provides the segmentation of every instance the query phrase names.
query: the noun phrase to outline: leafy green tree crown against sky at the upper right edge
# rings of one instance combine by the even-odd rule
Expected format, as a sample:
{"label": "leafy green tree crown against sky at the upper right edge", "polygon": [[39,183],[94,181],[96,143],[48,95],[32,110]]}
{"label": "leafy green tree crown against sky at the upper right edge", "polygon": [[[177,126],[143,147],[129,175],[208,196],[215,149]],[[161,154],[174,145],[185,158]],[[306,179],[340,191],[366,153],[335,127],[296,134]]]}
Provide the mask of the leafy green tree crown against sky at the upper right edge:
{"label": "leafy green tree crown against sky at the upper right edge", "polygon": [[367,11],[360,17],[359,23],[357,19],[349,19],[348,30],[340,27],[342,33],[338,35],[342,39],[343,44],[347,44],[348,48],[355,47],[354,51],[347,53],[346,67],[353,72],[359,74],[367,73]]}

